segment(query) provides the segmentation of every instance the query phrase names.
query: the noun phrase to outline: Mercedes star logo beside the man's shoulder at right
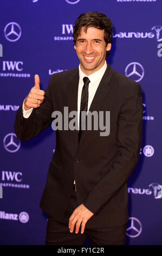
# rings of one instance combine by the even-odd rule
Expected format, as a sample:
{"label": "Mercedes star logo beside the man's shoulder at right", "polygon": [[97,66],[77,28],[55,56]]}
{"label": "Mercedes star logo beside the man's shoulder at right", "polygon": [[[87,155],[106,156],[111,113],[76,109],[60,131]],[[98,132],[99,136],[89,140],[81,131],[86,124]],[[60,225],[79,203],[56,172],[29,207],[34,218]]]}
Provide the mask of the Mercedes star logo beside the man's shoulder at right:
{"label": "Mercedes star logo beside the man's shoulder at right", "polygon": [[135,82],[139,82],[144,77],[144,68],[138,62],[131,62],[126,66],[125,74],[132,77]]}

